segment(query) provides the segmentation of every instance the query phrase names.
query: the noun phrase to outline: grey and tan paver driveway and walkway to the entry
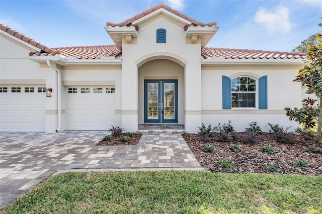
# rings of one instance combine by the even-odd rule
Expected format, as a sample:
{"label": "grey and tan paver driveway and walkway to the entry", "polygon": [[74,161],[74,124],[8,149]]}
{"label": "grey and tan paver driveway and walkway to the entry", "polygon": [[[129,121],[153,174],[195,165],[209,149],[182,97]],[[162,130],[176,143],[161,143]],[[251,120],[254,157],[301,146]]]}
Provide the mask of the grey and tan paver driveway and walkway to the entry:
{"label": "grey and tan paver driveway and walkway to the entry", "polygon": [[136,146],[97,146],[99,131],[0,133],[0,209],[59,170],[202,170],[180,134],[143,135]]}

